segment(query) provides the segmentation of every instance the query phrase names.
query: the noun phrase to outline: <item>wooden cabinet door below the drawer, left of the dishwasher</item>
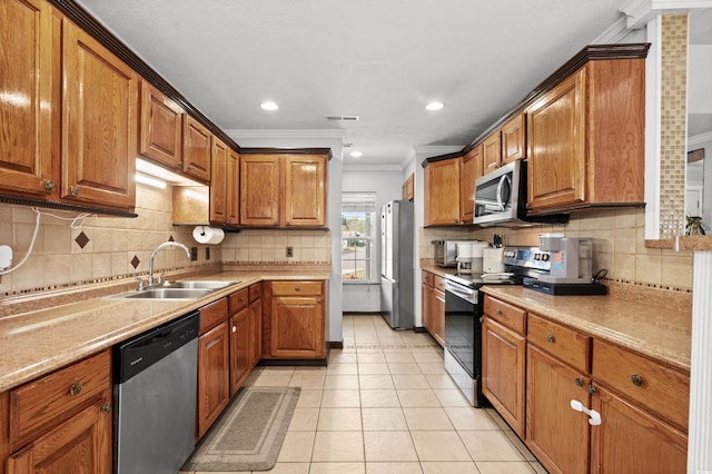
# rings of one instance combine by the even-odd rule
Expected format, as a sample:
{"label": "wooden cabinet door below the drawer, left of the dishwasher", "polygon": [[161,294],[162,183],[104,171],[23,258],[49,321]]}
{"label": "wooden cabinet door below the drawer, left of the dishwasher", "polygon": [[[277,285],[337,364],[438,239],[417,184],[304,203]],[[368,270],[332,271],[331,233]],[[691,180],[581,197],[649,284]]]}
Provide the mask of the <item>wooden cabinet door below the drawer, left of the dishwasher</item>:
{"label": "wooden cabinet door below the drawer, left of the dishwasher", "polygon": [[[111,399],[107,389],[106,401]],[[95,403],[8,460],[13,474],[111,473],[111,412]]]}

